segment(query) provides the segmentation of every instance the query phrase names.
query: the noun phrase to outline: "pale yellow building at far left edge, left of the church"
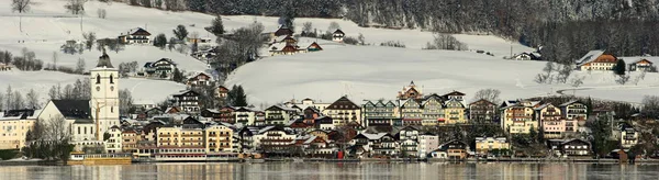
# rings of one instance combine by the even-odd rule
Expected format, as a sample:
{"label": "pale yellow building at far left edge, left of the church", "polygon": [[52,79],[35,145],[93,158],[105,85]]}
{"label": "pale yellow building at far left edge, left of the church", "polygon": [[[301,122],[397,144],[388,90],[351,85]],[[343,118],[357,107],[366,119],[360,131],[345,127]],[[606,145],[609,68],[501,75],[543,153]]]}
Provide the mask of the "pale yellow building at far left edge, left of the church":
{"label": "pale yellow building at far left edge, left of the church", "polygon": [[25,146],[27,131],[34,127],[38,111],[13,110],[0,112],[0,149],[20,149]]}

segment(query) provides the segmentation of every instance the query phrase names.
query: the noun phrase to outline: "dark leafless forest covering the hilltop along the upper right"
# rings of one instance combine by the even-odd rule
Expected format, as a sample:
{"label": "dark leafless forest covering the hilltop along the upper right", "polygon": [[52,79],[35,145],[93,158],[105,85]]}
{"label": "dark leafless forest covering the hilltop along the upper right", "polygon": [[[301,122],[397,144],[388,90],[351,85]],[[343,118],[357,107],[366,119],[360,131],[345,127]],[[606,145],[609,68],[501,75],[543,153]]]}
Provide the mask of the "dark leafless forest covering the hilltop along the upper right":
{"label": "dark leafless forest covering the hilltop along the upper right", "polygon": [[590,49],[659,55],[658,0],[124,0],[211,14],[343,18],[361,26],[483,33],[568,63]]}

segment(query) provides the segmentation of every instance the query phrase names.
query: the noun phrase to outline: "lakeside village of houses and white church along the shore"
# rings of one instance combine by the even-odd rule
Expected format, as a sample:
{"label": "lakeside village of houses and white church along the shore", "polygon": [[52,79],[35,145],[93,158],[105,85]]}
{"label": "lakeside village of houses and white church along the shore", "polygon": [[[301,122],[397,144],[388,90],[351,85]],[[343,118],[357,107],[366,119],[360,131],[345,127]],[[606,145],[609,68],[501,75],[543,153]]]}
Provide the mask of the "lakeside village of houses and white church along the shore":
{"label": "lakeside village of houses and white church along the shore", "polygon": [[[613,109],[592,106],[590,99],[469,101],[459,91],[422,92],[414,81],[392,92],[390,100],[354,101],[344,95],[334,102],[291,100],[266,109],[202,109],[199,92],[190,89],[172,94],[170,106],[136,103],[136,113],[124,116],[118,111],[120,75],[107,54],[89,76],[91,100],[51,100],[41,110],[3,112],[1,148],[34,146],[26,140],[34,124],[59,117],[65,122],[62,133],[75,145],[71,161],[99,154],[124,155],[132,161],[592,159],[597,157],[592,133],[601,130],[587,124],[608,124],[603,131],[608,131],[606,140],[616,142],[611,155],[618,157],[634,154],[641,140],[638,122],[652,121],[615,120]],[[211,79],[199,74],[187,85],[208,86]],[[219,99],[231,97],[228,88],[212,88]],[[529,150],[535,145],[540,147]],[[654,157],[654,151],[644,155]]]}

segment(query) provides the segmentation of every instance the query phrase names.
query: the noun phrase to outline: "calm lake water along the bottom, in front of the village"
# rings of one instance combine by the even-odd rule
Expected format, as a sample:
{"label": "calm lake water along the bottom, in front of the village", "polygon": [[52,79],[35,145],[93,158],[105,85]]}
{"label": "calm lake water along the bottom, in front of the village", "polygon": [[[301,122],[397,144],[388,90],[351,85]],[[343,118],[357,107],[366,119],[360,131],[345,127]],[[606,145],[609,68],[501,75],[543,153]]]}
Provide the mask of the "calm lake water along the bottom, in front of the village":
{"label": "calm lake water along the bottom, in front of the village", "polygon": [[126,166],[1,166],[0,180],[21,179],[659,179],[659,165],[266,162]]}

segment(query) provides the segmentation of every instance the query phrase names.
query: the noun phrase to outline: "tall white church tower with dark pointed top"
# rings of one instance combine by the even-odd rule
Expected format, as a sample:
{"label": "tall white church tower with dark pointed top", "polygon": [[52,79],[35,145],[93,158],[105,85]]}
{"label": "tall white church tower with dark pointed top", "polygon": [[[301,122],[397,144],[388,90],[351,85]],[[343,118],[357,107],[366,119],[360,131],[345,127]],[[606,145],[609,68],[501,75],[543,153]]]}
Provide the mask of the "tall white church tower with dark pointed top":
{"label": "tall white church tower with dark pointed top", "polygon": [[90,70],[91,115],[94,121],[97,138],[119,122],[119,70],[112,66],[110,56],[103,50],[97,66]]}

